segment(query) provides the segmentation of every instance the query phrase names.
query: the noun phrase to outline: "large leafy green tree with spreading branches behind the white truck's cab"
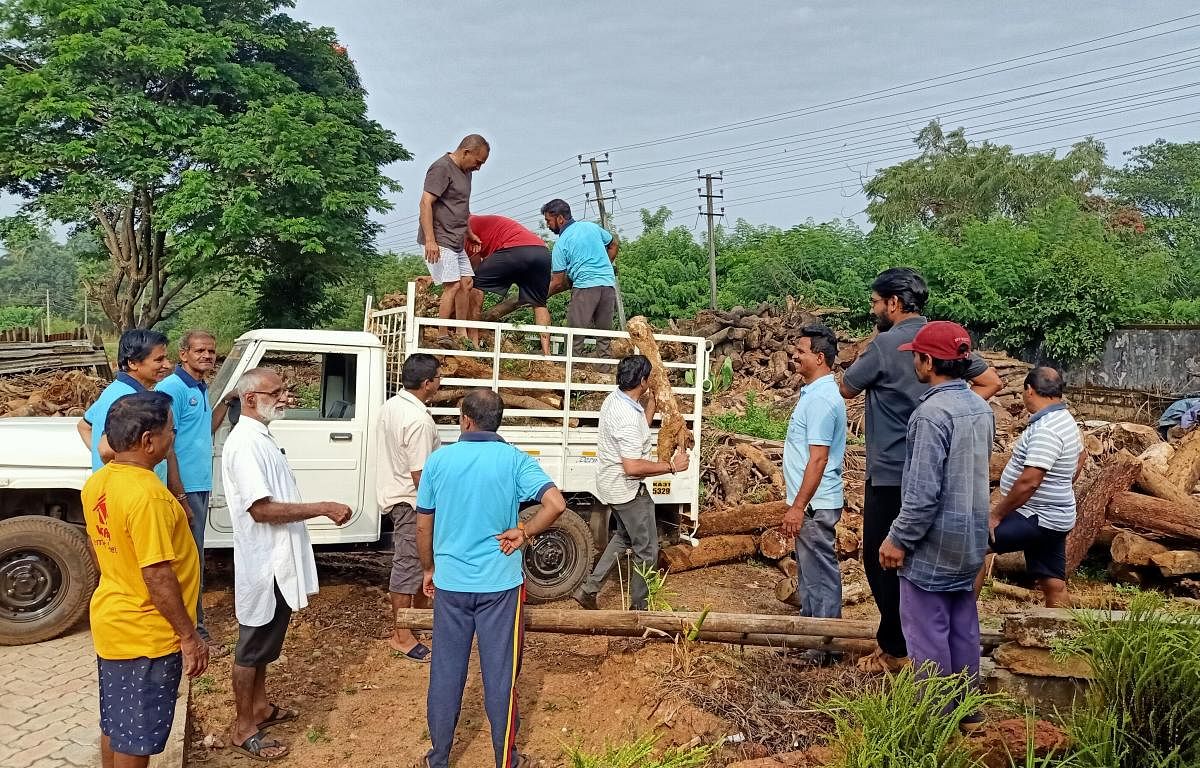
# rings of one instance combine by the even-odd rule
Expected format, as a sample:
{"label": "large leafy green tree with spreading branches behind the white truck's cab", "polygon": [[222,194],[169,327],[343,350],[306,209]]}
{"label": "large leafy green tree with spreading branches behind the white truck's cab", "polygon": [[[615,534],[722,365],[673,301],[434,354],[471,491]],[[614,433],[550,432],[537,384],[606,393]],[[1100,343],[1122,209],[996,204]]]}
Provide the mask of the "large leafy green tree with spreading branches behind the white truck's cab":
{"label": "large leafy green tree with spreading branches behind the white truck's cab", "polygon": [[288,5],[0,4],[0,185],[97,234],[89,288],[119,329],[246,286],[257,319],[316,322],[371,253],[380,168],[409,155],[334,31]]}

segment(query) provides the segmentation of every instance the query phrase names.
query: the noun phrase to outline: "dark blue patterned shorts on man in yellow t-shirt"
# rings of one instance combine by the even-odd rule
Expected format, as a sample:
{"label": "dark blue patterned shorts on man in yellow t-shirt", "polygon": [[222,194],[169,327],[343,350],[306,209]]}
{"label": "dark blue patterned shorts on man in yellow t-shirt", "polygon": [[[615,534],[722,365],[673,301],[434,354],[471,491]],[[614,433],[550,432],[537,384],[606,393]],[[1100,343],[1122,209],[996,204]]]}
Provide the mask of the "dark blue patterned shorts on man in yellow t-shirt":
{"label": "dark blue patterned shorts on man in yellow t-shirt", "polygon": [[114,752],[157,755],[167,749],[184,654],[157,659],[96,659],[100,731]]}

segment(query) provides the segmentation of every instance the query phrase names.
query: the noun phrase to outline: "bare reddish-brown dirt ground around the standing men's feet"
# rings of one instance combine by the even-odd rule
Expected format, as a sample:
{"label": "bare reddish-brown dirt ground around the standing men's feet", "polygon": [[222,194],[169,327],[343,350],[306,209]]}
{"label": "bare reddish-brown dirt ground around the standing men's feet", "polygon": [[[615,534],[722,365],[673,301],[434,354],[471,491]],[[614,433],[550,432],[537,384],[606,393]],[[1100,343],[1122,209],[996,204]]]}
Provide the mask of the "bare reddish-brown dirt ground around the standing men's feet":
{"label": "bare reddish-brown dirt ground around the standing men's feet", "polygon": [[[326,766],[397,766],[407,768],[428,749],[425,694],[428,667],[394,658],[389,632],[386,581],[390,553],[319,553],[322,589],[298,613],[288,632],[284,656],[268,672],[272,701],[298,708],[300,718],[272,734],[293,750],[293,768]],[[677,610],[786,613],[774,584],[779,571],[757,560],[671,575],[671,605]],[[601,607],[618,607],[610,583]],[[574,602],[553,604],[558,607]],[[1020,604],[991,599],[984,612],[998,614]],[[233,644],[233,582],[228,553],[210,553],[205,611],[211,631]],[[847,618],[869,618],[874,605],[846,610]],[[989,622],[990,623],[990,622]],[[431,643],[437,652],[436,641]],[[701,646],[695,654],[773,654],[770,649]],[[762,659],[762,656],[757,656]],[[778,664],[778,656],[772,659]],[[564,748],[589,750],[631,740],[647,732],[660,745],[714,743],[737,730],[664,691],[666,676],[678,677],[684,660],[662,642],[604,637],[527,635],[520,679],[521,750],[542,768],[566,766]],[[190,766],[239,766],[248,758],[223,748],[233,713],[230,658],[214,661],[192,688]],[[205,746],[205,738],[209,744]],[[458,766],[492,764],[482,689],[473,662],[463,698],[454,761]],[[727,746],[716,764],[743,756]]]}

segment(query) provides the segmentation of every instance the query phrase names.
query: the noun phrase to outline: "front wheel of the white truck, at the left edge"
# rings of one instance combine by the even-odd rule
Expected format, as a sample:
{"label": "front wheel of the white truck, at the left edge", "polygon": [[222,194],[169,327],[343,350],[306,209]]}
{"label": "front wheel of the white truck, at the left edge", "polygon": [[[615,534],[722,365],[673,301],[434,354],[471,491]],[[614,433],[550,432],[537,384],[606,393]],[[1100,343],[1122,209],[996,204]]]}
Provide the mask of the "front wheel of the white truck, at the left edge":
{"label": "front wheel of the white truck, at the left edge", "polygon": [[36,515],[0,522],[0,644],[67,631],[86,614],[97,580],[78,526]]}

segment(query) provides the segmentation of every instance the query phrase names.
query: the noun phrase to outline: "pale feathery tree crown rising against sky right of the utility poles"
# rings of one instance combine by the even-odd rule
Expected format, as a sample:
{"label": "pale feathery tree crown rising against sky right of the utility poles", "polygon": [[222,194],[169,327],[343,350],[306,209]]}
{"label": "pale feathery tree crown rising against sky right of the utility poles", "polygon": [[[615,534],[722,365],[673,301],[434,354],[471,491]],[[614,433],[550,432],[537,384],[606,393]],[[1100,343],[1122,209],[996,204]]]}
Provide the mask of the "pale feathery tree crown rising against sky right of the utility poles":
{"label": "pale feathery tree crown rising against sky right of the utility poles", "polygon": [[863,185],[871,223],[898,229],[918,223],[956,236],[973,220],[1025,221],[1060,197],[1082,203],[1105,172],[1104,145],[1086,139],[1063,156],[1018,154],[1012,146],[972,143],[962,128],[935,120],[917,134],[920,155],[884,168]]}

